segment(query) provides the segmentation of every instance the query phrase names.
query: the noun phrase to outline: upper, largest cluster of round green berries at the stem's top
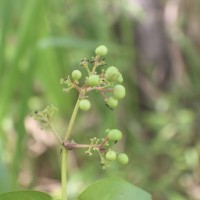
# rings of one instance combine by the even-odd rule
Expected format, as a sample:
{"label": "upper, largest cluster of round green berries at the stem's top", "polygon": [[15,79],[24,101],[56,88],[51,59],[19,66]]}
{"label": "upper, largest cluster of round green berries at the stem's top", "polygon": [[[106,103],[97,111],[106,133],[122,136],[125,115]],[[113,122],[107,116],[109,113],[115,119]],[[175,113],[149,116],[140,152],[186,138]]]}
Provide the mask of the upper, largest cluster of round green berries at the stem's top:
{"label": "upper, largest cluster of round green berries at the stem's top", "polygon": [[[96,56],[91,60],[86,58],[81,60],[80,66],[87,71],[87,76],[83,77],[80,70],[74,70],[71,77],[68,76],[65,79],[61,79],[62,84],[66,84],[67,88],[64,91],[69,91],[72,88],[78,90],[81,95],[79,107],[83,111],[87,111],[91,108],[91,103],[88,100],[87,93],[92,90],[99,91],[110,109],[114,109],[118,106],[118,101],[125,97],[126,90],[121,83],[123,82],[122,74],[119,70],[110,66],[107,69],[103,69],[106,66],[105,56],[108,50],[107,47],[101,45],[96,48]],[[100,68],[101,67],[101,68]]]}

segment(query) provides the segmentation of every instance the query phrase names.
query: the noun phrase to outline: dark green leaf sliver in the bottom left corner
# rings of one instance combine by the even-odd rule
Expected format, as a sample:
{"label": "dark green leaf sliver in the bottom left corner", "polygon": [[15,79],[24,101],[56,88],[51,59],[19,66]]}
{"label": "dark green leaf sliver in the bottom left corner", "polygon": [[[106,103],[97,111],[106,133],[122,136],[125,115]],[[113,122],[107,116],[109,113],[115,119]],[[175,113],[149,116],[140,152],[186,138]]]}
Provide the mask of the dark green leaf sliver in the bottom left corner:
{"label": "dark green leaf sliver in the bottom left corner", "polygon": [[0,200],[52,200],[52,198],[43,192],[14,191],[0,194]]}

